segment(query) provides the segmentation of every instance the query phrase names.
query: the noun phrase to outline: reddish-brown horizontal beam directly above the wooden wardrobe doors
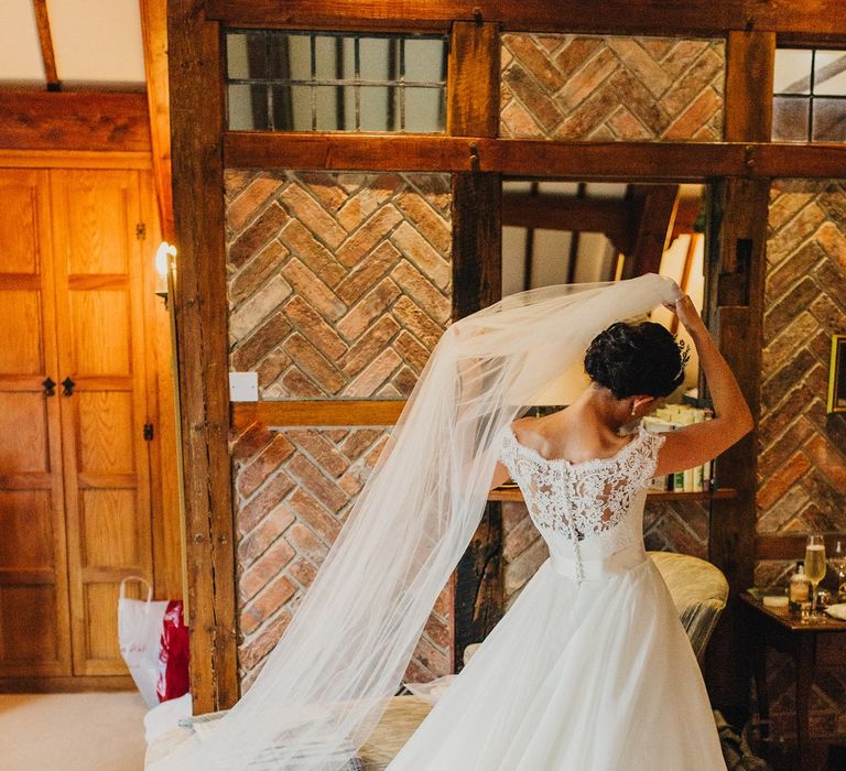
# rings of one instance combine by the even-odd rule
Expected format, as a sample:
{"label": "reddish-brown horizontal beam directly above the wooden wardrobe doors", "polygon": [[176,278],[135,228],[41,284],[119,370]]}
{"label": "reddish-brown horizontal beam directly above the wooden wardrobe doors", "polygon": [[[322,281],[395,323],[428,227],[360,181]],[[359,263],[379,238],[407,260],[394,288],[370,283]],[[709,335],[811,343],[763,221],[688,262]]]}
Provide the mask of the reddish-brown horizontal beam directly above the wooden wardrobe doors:
{"label": "reddish-brown horizontal beam directly above the wooden wardrobe doors", "polygon": [[0,89],[0,146],[150,152],[143,94]]}

